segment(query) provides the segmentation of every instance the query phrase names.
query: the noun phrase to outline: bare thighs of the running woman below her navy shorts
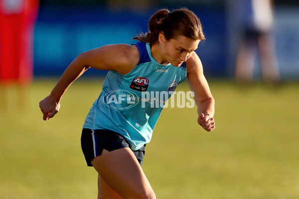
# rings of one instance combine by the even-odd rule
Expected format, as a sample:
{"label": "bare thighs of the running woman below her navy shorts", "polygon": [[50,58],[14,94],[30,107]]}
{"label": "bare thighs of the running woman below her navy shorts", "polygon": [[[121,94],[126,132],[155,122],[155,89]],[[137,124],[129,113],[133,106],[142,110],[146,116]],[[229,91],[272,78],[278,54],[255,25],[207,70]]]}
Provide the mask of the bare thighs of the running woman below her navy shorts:
{"label": "bare thighs of the running woman below her navy shorts", "polygon": [[116,196],[112,191],[124,199],[155,199],[149,181],[130,148],[111,152],[104,149],[91,164],[100,175],[98,199],[106,199],[109,194]]}

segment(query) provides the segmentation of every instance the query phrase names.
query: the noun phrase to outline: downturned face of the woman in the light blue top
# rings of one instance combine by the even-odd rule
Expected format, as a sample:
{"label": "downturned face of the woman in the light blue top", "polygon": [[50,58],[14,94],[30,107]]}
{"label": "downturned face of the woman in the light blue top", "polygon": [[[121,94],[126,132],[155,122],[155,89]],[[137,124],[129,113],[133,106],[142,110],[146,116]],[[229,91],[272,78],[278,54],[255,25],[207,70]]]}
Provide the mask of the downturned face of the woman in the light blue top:
{"label": "downturned face of the woman in the light blue top", "polygon": [[165,63],[168,62],[173,66],[179,67],[192,56],[194,50],[198,47],[199,41],[200,40],[193,40],[185,36],[178,36],[175,39],[167,41],[165,37],[161,35],[159,42],[161,44],[163,60]]}

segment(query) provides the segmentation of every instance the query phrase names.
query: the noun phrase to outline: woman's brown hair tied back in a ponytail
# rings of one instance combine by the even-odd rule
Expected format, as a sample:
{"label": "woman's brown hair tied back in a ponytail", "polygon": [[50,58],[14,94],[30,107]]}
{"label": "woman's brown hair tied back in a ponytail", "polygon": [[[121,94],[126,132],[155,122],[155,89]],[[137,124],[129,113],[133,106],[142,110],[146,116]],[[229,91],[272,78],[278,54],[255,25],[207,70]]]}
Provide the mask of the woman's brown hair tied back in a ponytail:
{"label": "woman's brown hair tied back in a ponytail", "polygon": [[143,42],[155,43],[159,33],[163,32],[166,40],[185,36],[194,40],[205,40],[198,17],[189,9],[160,9],[149,19],[149,33],[134,37]]}

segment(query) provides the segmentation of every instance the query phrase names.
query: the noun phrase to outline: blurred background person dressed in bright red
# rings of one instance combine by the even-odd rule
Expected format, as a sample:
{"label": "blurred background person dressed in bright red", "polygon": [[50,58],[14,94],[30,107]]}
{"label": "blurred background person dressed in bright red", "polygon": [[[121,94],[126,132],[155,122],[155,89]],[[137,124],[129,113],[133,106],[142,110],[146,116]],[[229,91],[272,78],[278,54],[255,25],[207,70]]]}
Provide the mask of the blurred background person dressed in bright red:
{"label": "blurred background person dressed in bright red", "polygon": [[1,109],[11,85],[18,86],[18,109],[26,106],[33,77],[33,30],[39,0],[0,0]]}

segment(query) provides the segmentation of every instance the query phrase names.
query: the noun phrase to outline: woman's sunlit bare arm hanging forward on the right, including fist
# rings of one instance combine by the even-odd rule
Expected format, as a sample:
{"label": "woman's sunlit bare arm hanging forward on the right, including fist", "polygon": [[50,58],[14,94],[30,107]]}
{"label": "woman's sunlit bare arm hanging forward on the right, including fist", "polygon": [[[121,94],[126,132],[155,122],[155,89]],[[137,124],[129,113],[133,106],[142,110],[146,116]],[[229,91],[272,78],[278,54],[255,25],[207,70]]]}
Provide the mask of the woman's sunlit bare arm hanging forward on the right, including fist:
{"label": "woman's sunlit bare arm hanging forward on the right, including fist", "polygon": [[203,75],[202,64],[195,52],[186,61],[187,79],[197,105],[197,122],[206,131],[215,129],[215,100]]}

